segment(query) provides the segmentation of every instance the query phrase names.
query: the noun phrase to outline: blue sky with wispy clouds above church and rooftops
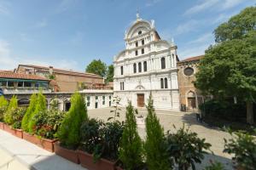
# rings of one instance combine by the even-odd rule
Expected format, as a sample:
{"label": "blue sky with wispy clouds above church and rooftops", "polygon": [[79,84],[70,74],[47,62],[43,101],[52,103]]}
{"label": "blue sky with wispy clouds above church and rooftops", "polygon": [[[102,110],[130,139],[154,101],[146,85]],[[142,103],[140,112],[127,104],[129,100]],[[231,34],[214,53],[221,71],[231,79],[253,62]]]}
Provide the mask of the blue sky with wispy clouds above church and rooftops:
{"label": "blue sky with wispy clouds above church and rooftops", "polygon": [[107,65],[125,48],[125,30],[154,20],[161,39],[177,44],[179,59],[204,54],[212,32],[256,0],[0,0],[0,70],[19,64],[84,71]]}

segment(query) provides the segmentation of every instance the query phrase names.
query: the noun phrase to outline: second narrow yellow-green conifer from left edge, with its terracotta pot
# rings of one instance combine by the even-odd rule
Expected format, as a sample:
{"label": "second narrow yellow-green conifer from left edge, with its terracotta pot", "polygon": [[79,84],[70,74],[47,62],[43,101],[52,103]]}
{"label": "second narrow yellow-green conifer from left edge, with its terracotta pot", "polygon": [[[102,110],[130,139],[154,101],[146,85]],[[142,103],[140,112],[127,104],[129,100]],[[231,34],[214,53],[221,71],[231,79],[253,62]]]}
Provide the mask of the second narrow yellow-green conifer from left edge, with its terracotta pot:
{"label": "second narrow yellow-green conifer from left edge, with its terracotta pot", "polygon": [[16,96],[14,95],[12,99],[10,99],[9,101],[7,111],[5,111],[3,114],[3,121],[6,122],[6,124],[4,124],[4,130],[12,134],[15,133],[15,130],[11,127],[11,125],[15,123],[13,116],[17,108],[18,108],[18,101]]}

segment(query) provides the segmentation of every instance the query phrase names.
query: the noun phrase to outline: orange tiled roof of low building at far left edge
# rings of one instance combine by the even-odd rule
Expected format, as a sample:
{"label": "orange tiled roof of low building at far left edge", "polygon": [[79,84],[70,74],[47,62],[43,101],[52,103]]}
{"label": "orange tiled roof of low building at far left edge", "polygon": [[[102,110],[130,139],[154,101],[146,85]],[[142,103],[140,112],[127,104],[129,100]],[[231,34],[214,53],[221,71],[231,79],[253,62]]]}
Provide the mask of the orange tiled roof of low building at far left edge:
{"label": "orange tiled roof of low building at far left edge", "polygon": [[14,72],[9,72],[9,71],[0,71],[0,78],[49,81],[47,78],[39,77],[37,75],[20,74],[20,73],[14,73]]}

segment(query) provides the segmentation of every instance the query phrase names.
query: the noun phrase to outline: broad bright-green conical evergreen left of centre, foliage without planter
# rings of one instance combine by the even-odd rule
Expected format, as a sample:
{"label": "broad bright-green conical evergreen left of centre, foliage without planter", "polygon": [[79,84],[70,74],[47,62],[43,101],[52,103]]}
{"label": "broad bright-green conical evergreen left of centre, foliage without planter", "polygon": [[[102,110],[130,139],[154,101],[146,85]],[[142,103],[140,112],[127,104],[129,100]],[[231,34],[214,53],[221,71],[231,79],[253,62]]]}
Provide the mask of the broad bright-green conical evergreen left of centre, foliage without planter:
{"label": "broad bright-green conical evergreen left of centre, foliage without planter", "polygon": [[61,127],[57,132],[57,137],[60,139],[61,144],[69,148],[76,148],[81,137],[80,127],[87,120],[84,98],[81,94],[75,93],[71,98],[71,108],[64,116]]}

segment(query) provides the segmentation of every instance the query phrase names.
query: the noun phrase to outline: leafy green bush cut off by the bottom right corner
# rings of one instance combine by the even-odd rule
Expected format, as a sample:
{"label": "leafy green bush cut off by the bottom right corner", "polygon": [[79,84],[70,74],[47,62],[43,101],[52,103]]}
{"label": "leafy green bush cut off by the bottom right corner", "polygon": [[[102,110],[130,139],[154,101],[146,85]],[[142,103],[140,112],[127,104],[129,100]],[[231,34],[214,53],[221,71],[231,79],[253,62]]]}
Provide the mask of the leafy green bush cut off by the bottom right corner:
{"label": "leafy green bush cut off by the bottom right corner", "polygon": [[[230,132],[231,133],[231,132]],[[224,152],[234,154],[239,167],[253,170],[256,167],[256,139],[244,133],[231,133],[233,139],[224,139]]]}

